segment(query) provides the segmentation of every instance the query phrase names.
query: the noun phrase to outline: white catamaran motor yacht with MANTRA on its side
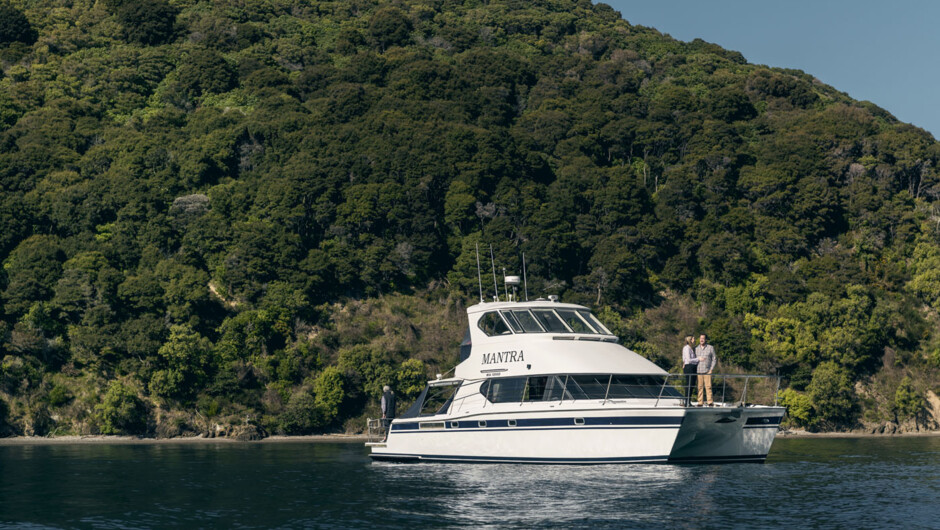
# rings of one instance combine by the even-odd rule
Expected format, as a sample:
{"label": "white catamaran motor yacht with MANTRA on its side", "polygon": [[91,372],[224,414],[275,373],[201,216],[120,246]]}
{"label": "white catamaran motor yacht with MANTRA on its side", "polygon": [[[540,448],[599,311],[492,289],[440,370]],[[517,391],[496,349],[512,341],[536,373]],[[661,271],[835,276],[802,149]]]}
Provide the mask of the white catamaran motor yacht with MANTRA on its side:
{"label": "white catamaran motor yacht with MANTRA on its side", "polygon": [[694,407],[684,397],[682,376],[618,344],[583,306],[553,297],[480,303],[467,314],[454,377],[430,381],[391,423],[387,438],[367,444],[373,459],[594,464],[767,458],[784,409],[747,403],[747,386],[759,376],[717,376],[735,397]]}

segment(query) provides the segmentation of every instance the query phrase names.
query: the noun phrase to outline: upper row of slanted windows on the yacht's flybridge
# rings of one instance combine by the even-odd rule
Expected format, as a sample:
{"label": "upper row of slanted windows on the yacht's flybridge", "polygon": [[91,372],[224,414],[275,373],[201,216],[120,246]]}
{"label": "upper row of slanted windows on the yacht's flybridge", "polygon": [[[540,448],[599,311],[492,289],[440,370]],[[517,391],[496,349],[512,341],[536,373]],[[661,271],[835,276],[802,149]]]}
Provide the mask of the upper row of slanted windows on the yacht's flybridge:
{"label": "upper row of slanted windows on the yacht's flybridge", "polygon": [[586,309],[504,309],[483,313],[477,326],[488,336],[510,333],[587,333],[613,335]]}

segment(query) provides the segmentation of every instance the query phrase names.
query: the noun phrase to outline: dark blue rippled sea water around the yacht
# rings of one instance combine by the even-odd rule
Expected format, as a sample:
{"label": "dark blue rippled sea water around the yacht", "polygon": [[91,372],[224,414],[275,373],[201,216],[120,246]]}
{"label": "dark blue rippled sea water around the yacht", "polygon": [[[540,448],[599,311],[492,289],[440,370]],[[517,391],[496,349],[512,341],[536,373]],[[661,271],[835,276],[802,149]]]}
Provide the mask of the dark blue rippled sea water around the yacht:
{"label": "dark blue rippled sea water around the yacht", "polygon": [[940,437],[765,464],[372,464],[360,443],[0,446],[0,527],[940,527]]}

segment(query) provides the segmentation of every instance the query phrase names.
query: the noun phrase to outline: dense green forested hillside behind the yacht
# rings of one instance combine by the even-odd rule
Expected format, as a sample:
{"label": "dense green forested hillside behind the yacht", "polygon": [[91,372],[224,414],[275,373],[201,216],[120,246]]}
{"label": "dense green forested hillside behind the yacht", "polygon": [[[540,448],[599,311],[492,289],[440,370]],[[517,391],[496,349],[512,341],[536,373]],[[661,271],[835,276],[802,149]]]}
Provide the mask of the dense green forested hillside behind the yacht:
{"label": "dense green forested hillside behind the yacht", "polygon": [[940,145],[624,18],[0,0],[0,434],[361,429],[455,365],[478,243],[793,426],[929,426]]}

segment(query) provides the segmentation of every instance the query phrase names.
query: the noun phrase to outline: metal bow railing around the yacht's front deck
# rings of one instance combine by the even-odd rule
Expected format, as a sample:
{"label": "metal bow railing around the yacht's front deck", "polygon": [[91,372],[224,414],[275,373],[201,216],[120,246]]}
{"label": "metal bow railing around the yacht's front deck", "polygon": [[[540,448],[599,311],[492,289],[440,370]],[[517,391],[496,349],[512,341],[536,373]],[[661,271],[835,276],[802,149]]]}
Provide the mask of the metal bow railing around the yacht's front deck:
{"label": "metal bow railing around the yacht's front deck", "polygon": [[[712,397],[716,403],[732,406],[773,405],[777,406],[780,392],[780,376],[752,374],[712,374]],[[678,391],[686,404],[697,401],[698,378],[696,374],[669,374],[663,380],[656,405],[662,399],[675,399]]]}

